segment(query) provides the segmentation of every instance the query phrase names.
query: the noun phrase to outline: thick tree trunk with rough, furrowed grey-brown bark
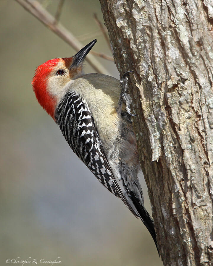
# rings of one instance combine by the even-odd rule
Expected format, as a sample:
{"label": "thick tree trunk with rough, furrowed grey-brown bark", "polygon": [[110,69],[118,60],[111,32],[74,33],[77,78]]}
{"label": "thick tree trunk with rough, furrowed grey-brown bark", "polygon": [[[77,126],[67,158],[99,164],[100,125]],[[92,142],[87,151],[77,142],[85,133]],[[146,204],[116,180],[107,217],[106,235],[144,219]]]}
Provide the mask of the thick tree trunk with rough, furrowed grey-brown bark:
{"label": "thick tree trunk with rough, furrowed grey-brown bark", "polygon": [[100,2],[164,265],[213,265],[213,3]]}

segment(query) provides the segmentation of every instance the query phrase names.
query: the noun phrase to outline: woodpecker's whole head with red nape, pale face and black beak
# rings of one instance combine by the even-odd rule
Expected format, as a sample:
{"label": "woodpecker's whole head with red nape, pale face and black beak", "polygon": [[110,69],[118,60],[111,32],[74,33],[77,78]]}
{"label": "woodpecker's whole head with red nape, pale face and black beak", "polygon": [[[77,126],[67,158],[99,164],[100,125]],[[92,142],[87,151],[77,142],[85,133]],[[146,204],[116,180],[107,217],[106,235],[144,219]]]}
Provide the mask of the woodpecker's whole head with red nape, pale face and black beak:
{"label": "woodpecker's whole head with red nape, pale face and black beak", "polygon": [[88,43],[72,57],[48,60],[35,70],[32,80],[35,96],[53,119],[59,99],[67,92],[68,83],[83,75],[83,60],[96,41]]}

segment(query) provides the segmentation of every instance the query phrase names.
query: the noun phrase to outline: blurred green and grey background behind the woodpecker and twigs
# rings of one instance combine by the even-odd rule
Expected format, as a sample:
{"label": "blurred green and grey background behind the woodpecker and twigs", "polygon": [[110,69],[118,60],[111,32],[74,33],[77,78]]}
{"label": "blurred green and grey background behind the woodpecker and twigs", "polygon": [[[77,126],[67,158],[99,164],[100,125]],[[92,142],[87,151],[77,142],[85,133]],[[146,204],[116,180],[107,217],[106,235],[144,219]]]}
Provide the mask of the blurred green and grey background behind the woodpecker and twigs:
{"label": "blurred green and grey background behind the woodpecker and twigs", "polygon": [[[54,15],[58,1],[41,4]],[[65,1],[60,22],[83,44],[97,38],[93,50],[111,55],[94,12],[103,22],[99,1]],[[17,257],[60,257],[68,266],[162,265],[143,223],[74,155],[35,99],[35,68],[75,51],[15,1],[0,1],[0,17],[0,265]],[[97,59],[119,77],[113,62]]]}

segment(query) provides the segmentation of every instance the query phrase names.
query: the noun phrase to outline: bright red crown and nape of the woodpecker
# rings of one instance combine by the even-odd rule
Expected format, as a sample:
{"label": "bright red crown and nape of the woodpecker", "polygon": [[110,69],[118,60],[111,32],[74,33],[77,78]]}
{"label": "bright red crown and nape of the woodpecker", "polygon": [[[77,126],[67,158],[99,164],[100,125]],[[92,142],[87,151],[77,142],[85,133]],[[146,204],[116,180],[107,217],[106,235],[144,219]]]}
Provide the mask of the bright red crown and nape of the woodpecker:
{"label": "bright red crown and nape of the woodpecker", "polygon": [[32,80],[33,90],[38,102],[46,110],[46,112],[52,116],[53,119],[56,107],[56,98],[47,92],[46,83],[53,67],[55,67],[60,60],[61,58],[51,59],[37,67]]}

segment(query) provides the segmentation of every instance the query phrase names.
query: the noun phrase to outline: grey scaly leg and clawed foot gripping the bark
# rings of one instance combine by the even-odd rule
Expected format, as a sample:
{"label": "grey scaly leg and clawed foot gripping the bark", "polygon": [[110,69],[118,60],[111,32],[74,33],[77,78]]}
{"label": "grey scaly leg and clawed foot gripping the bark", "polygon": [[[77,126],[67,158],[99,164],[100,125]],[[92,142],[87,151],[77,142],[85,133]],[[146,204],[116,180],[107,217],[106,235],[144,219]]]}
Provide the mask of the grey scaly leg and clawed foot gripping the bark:
{"label": "grey scaly leg and clawed foot gripping the bark", "polygon": [[136,116],[137,114],[132,114],[130,112],[130,103],[131,103],[131,99],[130,96],[126,93],[127,91],[127,86],[128,86],[128,77],[129,77],[129,73],[133,72],[128,71],[126,72],[122,78],[120,79],[120,86],[121,86],[121,93],[120,93],[120,97],[118,100],[118,105],[116,108],[116,111],[118,114],[121,114],[121,109],[122,109],[122,103],[125,102],[126,104],[126,111],[130,116]]}

